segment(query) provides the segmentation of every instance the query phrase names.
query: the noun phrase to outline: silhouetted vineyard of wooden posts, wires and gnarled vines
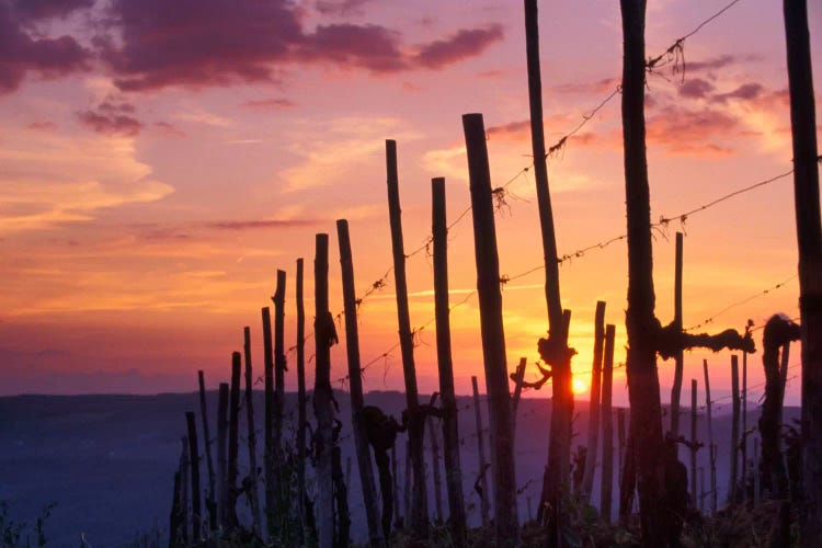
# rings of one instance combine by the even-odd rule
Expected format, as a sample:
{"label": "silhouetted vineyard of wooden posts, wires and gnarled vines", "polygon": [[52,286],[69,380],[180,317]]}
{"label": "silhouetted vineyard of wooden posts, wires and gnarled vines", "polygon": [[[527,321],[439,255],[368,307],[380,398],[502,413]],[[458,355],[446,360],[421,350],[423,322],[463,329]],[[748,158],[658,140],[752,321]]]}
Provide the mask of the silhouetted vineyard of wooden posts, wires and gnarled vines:
{"label": "silhouetted vineyard of wooden posts, wires and gnarled vines", "polygon": [[[206,390],[206,381],[213,379],[198,373],[198,407],[185,413],[173,478],[170,546],[336,548],[351,546],[356,530],[367,532],[356,540],[373,547],[818,546],[822,538],[822,227],[804,1],[785,1],[792,169],[651,219],[648,78],[667,75],[685,82],[686,41],[696,39],[739,1],[707,14],[667,48],[649,55],[646,2],[621,0],[621,77],[576,125],[549,144],[544,129],[537,2],[525,0],[534,161],[502,184],[493,182],[483,116],[465,114],[470,205],[446,218],[446,189],[463,189],[448,186],[444,178],[432,179],[431,235],[407,246],[399,144],[385,141],[392,250],[385,274],[357,293],[357,242],[352,241],[346,219],[336,221],[335,235],[316,235],[315,249],[306,250],[312,251],[312,262],[295,258],[293,274],[279,265],[271,306],[261,310],[261,327],[244,327],[242,352],[231,354],[230,376],[225,383],[220,379],[216,410]],[[627,229],[561,252],[547,162],[564,153],[583,128],[617,101]],[[523,178],[533,178],[535,185],[544,261],[505,274],[496,222],[518,199],[512,185]],[[786,265],[783,281],[747,298],[718,304],[712,316],[685,324],[687,222],[789,179],[796,201],[798,274],[790,275]],[[455,295],[453,288],[449,292],[448,251],[457,227],[472,233],[477,285],[476,290]],[[669,237],[675,243],[674,306],[673,317],[663,319],[657,317],[652,242]],[[627,302],[609,304],[608,313],[604,301],[596,302],[592,362],[582,363],[570,339],[579,320],[563,307],[560,292],[573,279],[561,267],[623,244],[628,258]],[[419,258],[430,262],[433,273],[434,313],[414,326],[407,262]],[[331,261],[340,263],[342,310],[330,307]],[[538,361],[524,356],[518,365],[512,364],[503,296],[512,282],[537,274],[544,275],[547,334],[534,341]],[[308,276],[313,295],[304,295]],[[774,311],[764,324],[749,321],[739,329],[711,332],[728,310],[796,279],[799,317]],[[287,302],[292,283],[296,298]],[[384,298],[389,285],[396,294],[399,336],[376,357],[361,355],[358,315]],[[313,309],[306,310],[306,301]],[[469,387],[455,380],[450,312],[475,301],[483,369],[471,377],[469,401],[458,396]],[[286,341],[286,318],[296,322],[296,342]],[[424,335],[432,331],[426,341]],[[263,341],[262,359],[252,356],[254,333]],[[624,338],[625,349],[618,336]],[[425,395],[418,384],[415,352],[432,342],[438,389]],[[344,344],[344,363],[332,363],[331,347],[336,344]],[[699,378],[685,379],[686,353],[699,349],[717,355],[703,361]],[[381,369],[396,355],[402,368],[404,407],[395,414],[364,390],[363,379],[384,374]],[[662,403],[667,395],[661,393],[659,358],[674,364],[670,406]],[[760,364],[764,381],[749,381]],[[718,386],[716,379],[724,378],[718,369],[730,370],[730,387]],[[614,401],[615,372],[625,373],[627,407]],[[296,400],[286,395],[287,377],[296,379]],[[581,377],[586,379],[583,395],[574,385]],[[312,387],[307,386],[308,378],[313,378]],[[689,390],[683,390],[685,383]],[[786,387],[791,383],[802,388],[799,416],[785,411]],[[537,391],[550,392],[549,410],[525,404],[523,393]],[[689,401],[683,392],[689,393]],[[585,400],[584,409],[574,402],[579,397]],[[341,412],[340,398],[346,398],[344,409],[350,413]],[[536,412],[545,414],[536,416]],[[720,433],[715,421],[728,412],[730,432]],[[544,430],[523,429],[526,418],[541,419]],[[343,431],[353,441],[354,459],[343,458]],[[545,463],[541,477],[521,476],[523,456],[516,442],[523,436],[548,439],[546,454],[538,456]],[[477,455],[477,466],[470,469],[464,455],[468,446]],[[361,506],[362,512],[356,510]]]}

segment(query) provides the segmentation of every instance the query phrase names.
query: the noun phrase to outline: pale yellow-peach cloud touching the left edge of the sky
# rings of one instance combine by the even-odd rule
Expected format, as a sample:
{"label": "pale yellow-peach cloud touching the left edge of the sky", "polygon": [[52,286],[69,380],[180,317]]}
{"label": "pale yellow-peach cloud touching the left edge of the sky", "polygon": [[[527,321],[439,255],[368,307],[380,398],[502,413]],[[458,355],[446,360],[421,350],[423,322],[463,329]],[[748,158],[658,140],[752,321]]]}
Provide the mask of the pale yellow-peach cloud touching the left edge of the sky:
{"label": "pale yellow-peach cloud touching the left edge of the sky", "polygon": [[134,137],[18,133],[0,148],[0,232],[92,220],[103,208],[173,192],[136,159]]}

